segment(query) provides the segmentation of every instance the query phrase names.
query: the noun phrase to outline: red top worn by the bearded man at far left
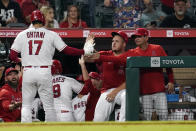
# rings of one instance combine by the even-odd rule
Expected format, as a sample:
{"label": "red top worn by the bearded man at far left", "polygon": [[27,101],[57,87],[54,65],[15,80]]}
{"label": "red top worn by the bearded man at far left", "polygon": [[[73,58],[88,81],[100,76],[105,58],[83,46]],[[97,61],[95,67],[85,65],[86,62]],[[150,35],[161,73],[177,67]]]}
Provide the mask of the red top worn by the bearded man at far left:
{"label": "red top worn by the bearded man at far left", "polygon": [[8,84],[5,84],[0,91],[0,118],[5,122],[15,122],[20,120],[21,108],[10,111],[9,105],[12,102],[21,102],[22,92],[14,91]]}

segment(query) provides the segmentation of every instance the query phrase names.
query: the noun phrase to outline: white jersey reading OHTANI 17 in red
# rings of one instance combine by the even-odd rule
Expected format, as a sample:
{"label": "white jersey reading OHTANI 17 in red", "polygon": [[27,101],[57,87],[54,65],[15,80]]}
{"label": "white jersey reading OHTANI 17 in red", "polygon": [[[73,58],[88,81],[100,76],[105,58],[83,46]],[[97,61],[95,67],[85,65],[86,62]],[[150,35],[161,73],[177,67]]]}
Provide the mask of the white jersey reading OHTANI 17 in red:
{"label": "white jersey reading OHTANI 17 in red", "polygon": [[57,33],[31,27],[17,35],[11,49],[21,53],[23,66],[46,66],[52,65],[55,48],[62,51],[66,46]]}

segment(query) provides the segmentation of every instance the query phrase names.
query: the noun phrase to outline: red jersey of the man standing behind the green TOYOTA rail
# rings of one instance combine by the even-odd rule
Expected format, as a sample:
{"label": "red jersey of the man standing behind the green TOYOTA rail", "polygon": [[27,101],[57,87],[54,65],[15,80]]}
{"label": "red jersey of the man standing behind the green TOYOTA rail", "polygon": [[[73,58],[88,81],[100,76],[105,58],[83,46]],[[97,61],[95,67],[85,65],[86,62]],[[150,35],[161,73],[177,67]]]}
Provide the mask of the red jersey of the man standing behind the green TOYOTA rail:
{"label": "red jersey of the man standing behind the green TOYOTA rail", "polygon": [[[146,50],[135,48],[135,53],[139,56],[167,56],[164,49],[160,45],[149,44]],[[173,72],[171,68],[167,68],[167,74],[170,82],[173,80]],[[163,68],[144,68],[140,70],[140,93],[153,94],[157,92],[165,92],[165,82],[163,76]]]}

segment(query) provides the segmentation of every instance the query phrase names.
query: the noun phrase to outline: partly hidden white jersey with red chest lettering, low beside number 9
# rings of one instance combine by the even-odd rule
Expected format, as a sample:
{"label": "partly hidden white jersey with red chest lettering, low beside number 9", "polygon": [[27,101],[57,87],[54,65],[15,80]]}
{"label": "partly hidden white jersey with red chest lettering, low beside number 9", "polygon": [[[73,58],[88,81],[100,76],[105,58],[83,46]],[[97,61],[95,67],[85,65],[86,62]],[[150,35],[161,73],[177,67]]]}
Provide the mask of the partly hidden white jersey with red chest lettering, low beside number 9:
{"label": "partly hidden white jersey with red chest lettering, low beside number 9", "polygon": [[84,95],[83,97],[79,98],[76,96],[72,100],[72,108],[73,113],[76,121],[85,121],[85,110],[86,110],[86,104],[88,95]]}

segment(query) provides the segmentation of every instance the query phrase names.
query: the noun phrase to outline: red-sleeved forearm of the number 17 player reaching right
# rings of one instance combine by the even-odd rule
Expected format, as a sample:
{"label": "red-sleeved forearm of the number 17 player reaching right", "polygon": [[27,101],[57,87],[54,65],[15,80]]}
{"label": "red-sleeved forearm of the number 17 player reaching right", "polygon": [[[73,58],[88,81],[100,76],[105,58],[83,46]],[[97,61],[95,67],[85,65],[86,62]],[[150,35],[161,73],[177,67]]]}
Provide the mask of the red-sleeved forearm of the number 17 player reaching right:
{"label": "red-sleeved forearm of the number 17 player reaching right", "polygon": [[67,55],[83,55],[84,54],[84,50],[83,49],[77,49],[77,48],[73,48],[70,46],[66,46],[63,50],[63,53],[67,54]]}

